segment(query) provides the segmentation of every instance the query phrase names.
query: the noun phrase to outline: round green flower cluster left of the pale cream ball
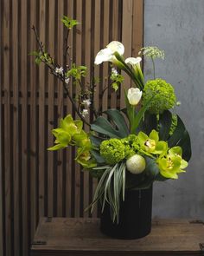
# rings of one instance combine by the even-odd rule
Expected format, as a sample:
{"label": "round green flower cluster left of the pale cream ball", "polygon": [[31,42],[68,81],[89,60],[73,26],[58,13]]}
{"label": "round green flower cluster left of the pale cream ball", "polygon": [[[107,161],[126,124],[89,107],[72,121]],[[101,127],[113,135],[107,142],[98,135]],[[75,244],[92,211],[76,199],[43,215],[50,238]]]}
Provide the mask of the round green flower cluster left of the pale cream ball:
{"label": "round green flower cluster left of the pale cream ball", "polygon": [[124,159],[124,144],[121,140],[110,139],[100,144],[100,155],[106,163],[114,165]]}

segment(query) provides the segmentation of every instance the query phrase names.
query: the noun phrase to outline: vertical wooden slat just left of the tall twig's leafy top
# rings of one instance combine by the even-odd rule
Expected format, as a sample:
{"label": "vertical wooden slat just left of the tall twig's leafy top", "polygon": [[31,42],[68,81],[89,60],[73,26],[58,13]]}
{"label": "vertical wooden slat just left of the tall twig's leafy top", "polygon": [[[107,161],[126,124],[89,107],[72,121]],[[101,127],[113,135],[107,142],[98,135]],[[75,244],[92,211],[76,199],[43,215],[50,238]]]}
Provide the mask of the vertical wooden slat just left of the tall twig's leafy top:
{"label": "vertical wooden slat just left of the tall twig's leafy top", "polygon": [[[63,16],[63,1],[58,1],[58,16],[57,16],[57,23],[58,23],[58,34],[57,34],[57,61],[61,67],[63,67],[63,24],[61,23],[61,17]],[[58,81],[58,117],[63,117],[63,86],[62,82]],[[63,161],[63,152],[62,150],[58,151],[57,153],[57,215],[62,216],[62,179],[63,179],[63,168],[62,168],[62,161]]]}

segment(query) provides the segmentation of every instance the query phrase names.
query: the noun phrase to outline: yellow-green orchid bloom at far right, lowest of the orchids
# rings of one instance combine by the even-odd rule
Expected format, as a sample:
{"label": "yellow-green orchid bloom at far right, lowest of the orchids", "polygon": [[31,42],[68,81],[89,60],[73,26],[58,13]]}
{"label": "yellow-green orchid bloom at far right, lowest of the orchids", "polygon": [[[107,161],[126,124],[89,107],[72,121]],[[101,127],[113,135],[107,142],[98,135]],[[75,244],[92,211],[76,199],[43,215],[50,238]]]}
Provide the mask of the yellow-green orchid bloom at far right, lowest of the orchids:
{"label": "yellow-green orchid bloom at far right, lowest of the orchids", "polygon": [[182,148],[173,147],[168,154],[164,154],[156,160],[160,174],[165,178],[178,179],[180,173],[185,173],[188,162],[182,159]]}

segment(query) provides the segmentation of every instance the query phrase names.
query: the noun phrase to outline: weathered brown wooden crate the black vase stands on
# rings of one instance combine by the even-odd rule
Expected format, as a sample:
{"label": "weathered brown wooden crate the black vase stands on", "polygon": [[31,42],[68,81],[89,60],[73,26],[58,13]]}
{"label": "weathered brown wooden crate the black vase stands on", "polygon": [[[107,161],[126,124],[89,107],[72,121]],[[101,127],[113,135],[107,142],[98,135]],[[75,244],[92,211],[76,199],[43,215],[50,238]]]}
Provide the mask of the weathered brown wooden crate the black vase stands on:
{"label": "weathered brown wooden crate the black vase stands on", "polygon": [[140,240],[114,240],[99,231],[99,219],[43,218],[31,256],[201,255],[204,222],[153,220],[150,235]]}

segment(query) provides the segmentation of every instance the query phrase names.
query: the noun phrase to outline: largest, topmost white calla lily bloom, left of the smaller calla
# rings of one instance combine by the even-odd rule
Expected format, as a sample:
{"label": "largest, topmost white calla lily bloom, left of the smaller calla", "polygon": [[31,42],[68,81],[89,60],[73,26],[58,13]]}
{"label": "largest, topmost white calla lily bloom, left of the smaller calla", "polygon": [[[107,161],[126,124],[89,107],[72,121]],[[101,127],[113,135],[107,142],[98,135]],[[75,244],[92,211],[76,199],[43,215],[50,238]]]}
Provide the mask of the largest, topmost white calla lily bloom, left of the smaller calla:
{"label": "largest, topmost white calla lily bloom, left of the smaller calla", "polygon": [[105,49],[101,49],[95,57],[95,64],[99,65],[102,62],[117,62],[114,53],[118,52],[120,56],[124,54],[124,45],[118,41],[112,41]]}

